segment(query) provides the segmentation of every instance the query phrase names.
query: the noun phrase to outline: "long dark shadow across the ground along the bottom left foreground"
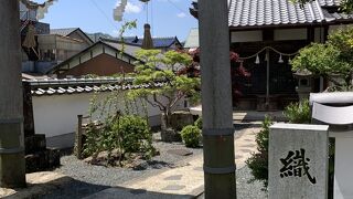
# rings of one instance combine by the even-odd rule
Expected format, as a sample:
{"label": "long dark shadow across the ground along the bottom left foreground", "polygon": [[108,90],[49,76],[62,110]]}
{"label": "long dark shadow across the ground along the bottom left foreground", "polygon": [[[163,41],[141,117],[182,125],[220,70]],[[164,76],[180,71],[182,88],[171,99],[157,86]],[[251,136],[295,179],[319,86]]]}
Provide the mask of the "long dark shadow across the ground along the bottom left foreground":
{"label": "long dark shadow across the ground along the bottom left foreground", "polygon": [[[178,190],[175,187],[165,187],[165,190]],[[45,184],[28,185],[25,189],[18,189],[17,192],[4,197],[4,199],[191,199],[190,195],[172,195],[152,192],[145,189],[129,189],[125,187],[108,187],[83,182],[69,177],[63,177]]]}

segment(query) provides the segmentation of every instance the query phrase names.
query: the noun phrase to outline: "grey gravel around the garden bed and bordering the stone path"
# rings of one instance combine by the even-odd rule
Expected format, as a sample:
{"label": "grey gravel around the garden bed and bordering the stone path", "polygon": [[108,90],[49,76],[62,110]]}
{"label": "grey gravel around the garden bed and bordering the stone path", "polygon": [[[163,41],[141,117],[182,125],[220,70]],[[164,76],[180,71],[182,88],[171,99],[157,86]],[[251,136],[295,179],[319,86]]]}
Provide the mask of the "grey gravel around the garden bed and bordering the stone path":
{"label": "grey gravel around the garden bed and bordering the stone path", "polygon": [[[246,126],[236,126],[237,130],[240,130],[238,135],[243,134]],[[164,171],[170,168],[181,167],[186,164],[189,158],[195,158],[202,155],[202,148],[192,149],[185,148],[182,143],[162,143],[159,142],[159,134],[154,134],[154,146],[159,149],[160,155],[153,157],[150,161],[142,161],[139,169],[132,168],[118,168],[118,167],[103,167],[103,166],[93,166],[88,165],[73,155],[63,156],[61,158],[62,166],[55,169],[55,172],[62,172],[66,176],[74,178],[74,181],[57,189],[52,190],[51,192],[45,193],[38,198],[44,199],[72,199],[72,198],[83,198],[88,195],[93,195],[100,190],[104,190],[109,187],[116,187],[121,184],[131,180],[138,180],[147,178]],[[179,149],[189,150],[193,154],[190,156],[181,156],[171,150],[175,151]],[[261,191],[263,184],[255,181],[248,184],[248,180],[252,178],[252,174],[247,167],[243,167],[237,170],[237,198],[239,199],[264,199],[267,198],[267,193]],[[201,196],[200,198],[202,198]]]}

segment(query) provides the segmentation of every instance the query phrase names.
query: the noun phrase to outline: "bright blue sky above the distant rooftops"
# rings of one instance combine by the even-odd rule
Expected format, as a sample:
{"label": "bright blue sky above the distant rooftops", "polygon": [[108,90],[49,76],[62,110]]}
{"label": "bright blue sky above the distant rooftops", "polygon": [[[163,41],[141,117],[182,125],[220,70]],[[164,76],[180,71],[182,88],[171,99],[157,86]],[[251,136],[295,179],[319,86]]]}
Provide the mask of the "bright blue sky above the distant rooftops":
{"label": "bright blue sky above the distant rooftops", "polygon": [[[44,0],[36,0],[43,2]],[[51,28],[81,28],[85,32],[104,32],[117,36],[122,22],[114,21],[113,9],[120,0],[58,0],[49,9],[41,20]],[[191,28],[197,21],[190,15],[192,0],[151,0],[149,3],[149,22],[153,36],[178,36],[184,41]],[[128,0],[125,21],[137,20],[138,28],[126,35],[143,35],[147,20],[146,4],[139,0]]]}

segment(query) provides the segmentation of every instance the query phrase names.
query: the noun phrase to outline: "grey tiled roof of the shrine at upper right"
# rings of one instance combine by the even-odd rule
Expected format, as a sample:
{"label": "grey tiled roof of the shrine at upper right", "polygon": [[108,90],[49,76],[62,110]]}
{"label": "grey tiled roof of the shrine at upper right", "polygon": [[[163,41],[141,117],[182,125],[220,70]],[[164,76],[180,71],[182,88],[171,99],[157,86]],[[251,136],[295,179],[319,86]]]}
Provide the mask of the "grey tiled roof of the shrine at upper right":
{"label": "grey tiled roof of the shrine at upper right", "polygon": [[300,8],[289,0],[231,0],[228,23],[231,28],[258,28],[352,20],[352,15],[325,10],[338,7],[340,1],[317,0]]}

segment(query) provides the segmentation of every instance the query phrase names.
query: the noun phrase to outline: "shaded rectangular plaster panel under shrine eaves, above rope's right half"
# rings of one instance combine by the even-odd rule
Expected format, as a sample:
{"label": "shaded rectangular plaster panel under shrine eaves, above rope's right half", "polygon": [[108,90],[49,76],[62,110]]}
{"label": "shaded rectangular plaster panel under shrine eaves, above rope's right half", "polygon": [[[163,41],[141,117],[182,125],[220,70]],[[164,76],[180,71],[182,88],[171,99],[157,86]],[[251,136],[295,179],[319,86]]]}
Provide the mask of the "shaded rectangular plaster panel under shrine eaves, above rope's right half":
{"label": "shaded rectangular plaster panel under shrine eaves, above rope's right half", "polygon": [[275,41],[282,40],[307,40],[307,29],[282,29],[275,30],[274,39]]}

